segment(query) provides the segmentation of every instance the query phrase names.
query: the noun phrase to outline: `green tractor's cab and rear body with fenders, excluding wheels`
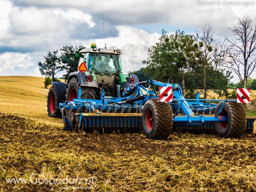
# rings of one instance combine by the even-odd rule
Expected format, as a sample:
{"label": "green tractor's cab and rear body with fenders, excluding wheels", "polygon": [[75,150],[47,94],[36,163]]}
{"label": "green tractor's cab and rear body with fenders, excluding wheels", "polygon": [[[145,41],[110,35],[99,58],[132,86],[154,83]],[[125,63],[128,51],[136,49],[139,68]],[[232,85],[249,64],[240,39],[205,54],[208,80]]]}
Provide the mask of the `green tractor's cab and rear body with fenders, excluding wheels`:
{"label": "green tractor's cab and rear body with fenders, excluding wheels", "polygon": [[74,56],[77,63],[77,72],[69,74],[66,87],[75,77],[80,86],[95,88],[95,98],[100,98],[103,90],[105,96],[125,95],[139,80],[137,76],[123,74],[121,54],[120,49],[97,48],[96,44],[91,44],[91,48],[84,48],[77,54],[64,54],[63,63],[70,62],[68,55]]}

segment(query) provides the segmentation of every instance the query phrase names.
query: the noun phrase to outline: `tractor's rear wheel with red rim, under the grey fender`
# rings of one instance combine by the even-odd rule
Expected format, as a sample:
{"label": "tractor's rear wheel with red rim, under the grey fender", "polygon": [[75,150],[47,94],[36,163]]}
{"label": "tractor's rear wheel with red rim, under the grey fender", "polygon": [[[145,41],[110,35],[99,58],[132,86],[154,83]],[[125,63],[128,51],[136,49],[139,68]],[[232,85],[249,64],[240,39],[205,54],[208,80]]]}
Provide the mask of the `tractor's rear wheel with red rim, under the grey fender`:
{"label": "tractor's rear wheel with red rim, under the grey fender", "polygon": [[73,99],[76,99],[79,88],[82,89],[81,99],[95,99],[95,88],[80,86],[78,79],[76,77],[72,77],[68,82],[66,101],[73,101]]}

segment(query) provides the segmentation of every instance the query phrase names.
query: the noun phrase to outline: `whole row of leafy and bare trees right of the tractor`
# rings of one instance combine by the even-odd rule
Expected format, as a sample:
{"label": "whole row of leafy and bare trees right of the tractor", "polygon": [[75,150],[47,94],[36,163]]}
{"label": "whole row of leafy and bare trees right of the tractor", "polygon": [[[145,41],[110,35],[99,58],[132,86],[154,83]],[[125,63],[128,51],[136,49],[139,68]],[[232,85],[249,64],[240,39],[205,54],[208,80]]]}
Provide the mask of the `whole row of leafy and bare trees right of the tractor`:
{"label": "whole row of leafy and bare trees right of the tractor", "polygon": [[[256,20],[243,16],[228,29],[230,34],[222,39],[210,23],[194,35],[180,30],[167,35],[162,30],[159,42],[148,49],[148,58],[142,61],[145,67],[131,73],[142,80],[181,84],[186,98],[194,98],[198,89],[204,99],[208,90],[234,98],[235,92],[228,89],[236,85],[246,88],[249,81],[249,88],[254,89],[256,79],[250,76],[256,67]],[[233,75],[239,78],[239,84],[231,83]]]}

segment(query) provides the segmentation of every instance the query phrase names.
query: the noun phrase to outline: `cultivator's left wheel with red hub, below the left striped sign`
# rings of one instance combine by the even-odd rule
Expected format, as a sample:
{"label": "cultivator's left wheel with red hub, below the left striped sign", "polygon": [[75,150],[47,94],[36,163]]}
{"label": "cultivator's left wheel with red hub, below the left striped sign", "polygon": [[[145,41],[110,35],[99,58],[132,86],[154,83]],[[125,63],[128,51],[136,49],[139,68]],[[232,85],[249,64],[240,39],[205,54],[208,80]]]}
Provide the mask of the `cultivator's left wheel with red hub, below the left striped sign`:
{"label": "cultivator's left wheel with red hub, below the left striped sign", "polygon": [[149,139],[167,139],[172,132],[172,108],[158,99],[148,100],[142,111],[144,134]]}

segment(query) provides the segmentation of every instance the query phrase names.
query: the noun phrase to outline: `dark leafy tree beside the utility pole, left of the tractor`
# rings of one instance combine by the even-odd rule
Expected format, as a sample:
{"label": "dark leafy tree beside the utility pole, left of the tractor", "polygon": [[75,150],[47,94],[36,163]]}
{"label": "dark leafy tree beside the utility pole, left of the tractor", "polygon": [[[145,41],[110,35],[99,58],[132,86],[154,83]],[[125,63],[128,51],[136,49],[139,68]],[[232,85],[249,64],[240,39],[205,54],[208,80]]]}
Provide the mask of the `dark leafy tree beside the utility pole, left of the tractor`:
{"label": "dark leafy tree beside the utility pole, left of the tractor", "polygon": [[58,50],[48,52],[47,56],[44,57],[45,62],[39,62],[39,71],[41,75],[45,75],[47,69],[47,76],[52,77],[52,81],[56,81],[56,74],[63,71],[65,66],[60,62],[60,57],[57,56]]}

